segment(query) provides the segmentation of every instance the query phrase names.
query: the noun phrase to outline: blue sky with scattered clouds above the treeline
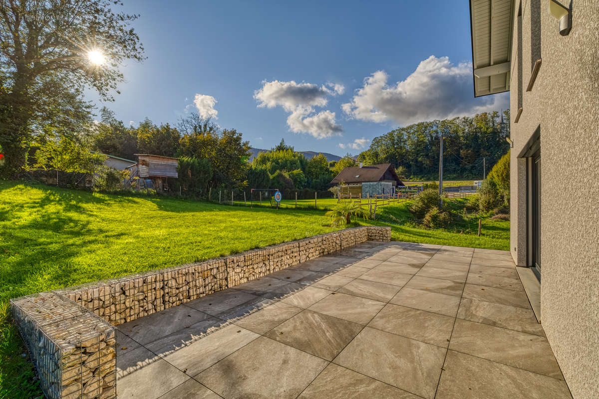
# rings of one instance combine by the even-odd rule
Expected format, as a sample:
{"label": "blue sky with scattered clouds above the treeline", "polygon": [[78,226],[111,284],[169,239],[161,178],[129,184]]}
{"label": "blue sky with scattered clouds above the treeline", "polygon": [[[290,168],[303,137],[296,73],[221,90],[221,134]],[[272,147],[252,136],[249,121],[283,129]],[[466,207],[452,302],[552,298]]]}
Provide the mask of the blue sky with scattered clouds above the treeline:
{"label": "blue sky with scattered clouds above the treeline", "polygon": [[126,62],[117,118],[215,115],[252,147],[357,154],[420,120],[505,109],[473,98],[467,1],[124,0],[143,63]]}

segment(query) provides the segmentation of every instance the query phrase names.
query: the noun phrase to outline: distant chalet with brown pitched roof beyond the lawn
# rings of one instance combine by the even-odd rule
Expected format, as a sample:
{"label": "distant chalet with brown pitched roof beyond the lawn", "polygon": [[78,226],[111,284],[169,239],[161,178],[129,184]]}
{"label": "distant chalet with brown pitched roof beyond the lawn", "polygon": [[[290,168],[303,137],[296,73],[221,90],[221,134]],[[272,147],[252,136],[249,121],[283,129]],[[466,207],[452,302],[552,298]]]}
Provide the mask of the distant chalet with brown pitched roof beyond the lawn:
{"label": "distant chalet with brown pitched roof beyond the lawn", "polygon": [[346,167],[335,176],[331,185],[341,186],[341,198],[395,194],[395,188],[405,187],[391,163]]}

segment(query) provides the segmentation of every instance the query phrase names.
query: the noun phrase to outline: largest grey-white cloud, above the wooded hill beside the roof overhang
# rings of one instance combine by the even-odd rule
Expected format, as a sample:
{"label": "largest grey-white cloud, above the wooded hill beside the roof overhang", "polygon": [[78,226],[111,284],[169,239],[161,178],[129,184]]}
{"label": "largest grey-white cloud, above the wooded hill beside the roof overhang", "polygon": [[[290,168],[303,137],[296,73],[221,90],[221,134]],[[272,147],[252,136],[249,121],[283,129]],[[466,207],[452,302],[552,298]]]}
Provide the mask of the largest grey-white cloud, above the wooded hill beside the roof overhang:
{"label": "largest grey-white cloud, above the wooded hill beside the roof overhang", "polygon": [[388,85],[388,79],[385,71],[374,72],[341,108],[359,120],[410,124],[509,106],[506,95],[474,98],[471,64],[453,65],[449,57],[430,56],[406,80]]}

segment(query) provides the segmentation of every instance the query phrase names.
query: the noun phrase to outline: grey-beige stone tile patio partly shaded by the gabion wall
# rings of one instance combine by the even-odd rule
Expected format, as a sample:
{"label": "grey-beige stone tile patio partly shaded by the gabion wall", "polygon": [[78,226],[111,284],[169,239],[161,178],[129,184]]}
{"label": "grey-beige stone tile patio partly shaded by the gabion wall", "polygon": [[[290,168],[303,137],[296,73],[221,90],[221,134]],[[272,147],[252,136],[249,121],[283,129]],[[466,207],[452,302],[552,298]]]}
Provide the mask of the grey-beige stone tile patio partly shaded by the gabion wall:
{"label": "grey-beige stone tile patio partly shaded by the gabion wall", "polygon": [[504,251],[366,242],[118,328],[119,398],[571,398]]}

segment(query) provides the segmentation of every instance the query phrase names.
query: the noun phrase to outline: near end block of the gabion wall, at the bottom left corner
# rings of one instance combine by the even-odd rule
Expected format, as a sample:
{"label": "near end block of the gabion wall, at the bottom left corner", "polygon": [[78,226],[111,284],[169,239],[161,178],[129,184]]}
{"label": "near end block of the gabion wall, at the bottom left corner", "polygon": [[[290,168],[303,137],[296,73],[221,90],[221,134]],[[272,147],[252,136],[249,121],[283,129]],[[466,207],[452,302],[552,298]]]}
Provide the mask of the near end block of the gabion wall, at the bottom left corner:
{"label": "near end block of the gabion wall, at the bottom left corner", "polygon": [[48,398],[116,398],[113,325],[49,292],[11,300]]}

